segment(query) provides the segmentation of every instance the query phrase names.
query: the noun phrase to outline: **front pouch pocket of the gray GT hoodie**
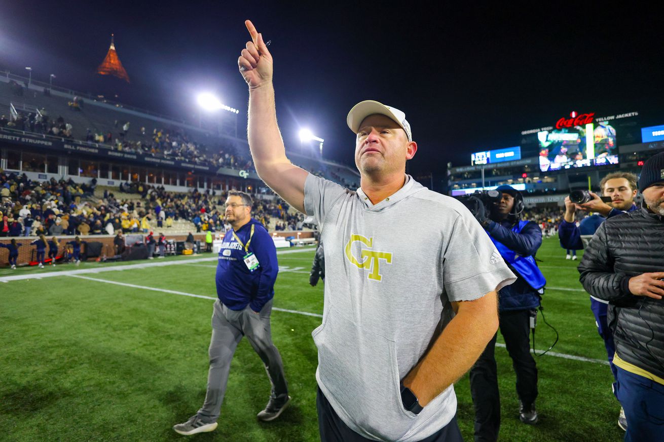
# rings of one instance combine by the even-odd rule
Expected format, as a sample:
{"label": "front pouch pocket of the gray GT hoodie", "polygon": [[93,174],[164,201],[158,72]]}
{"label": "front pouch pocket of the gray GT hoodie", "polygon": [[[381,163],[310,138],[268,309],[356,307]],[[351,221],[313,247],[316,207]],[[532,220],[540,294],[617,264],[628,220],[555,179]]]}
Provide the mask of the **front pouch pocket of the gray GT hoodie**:
{"label": "front pouch pocket of the gray GT hoodie", "polygon": [[342,419],[376,439],[407,433],[416,416],[402,406],[394,341],[334,311],[312,336],[323,392]]}

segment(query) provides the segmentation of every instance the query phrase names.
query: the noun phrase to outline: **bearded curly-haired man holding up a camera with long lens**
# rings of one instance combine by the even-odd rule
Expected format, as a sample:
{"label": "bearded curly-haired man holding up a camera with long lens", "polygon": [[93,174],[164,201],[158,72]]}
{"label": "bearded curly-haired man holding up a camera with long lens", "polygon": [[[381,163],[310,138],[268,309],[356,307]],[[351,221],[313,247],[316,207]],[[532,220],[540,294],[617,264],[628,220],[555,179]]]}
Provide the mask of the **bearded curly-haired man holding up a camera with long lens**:
{"label": "bearded curly-haired man holding up a camera with long lens", "polygon": [[[614,172],[606,175],[600,181],[600,188],[604,197],[611,198],[611,202],[602,201],[602,198],[593,192],[588,192],[592,200],[583,204],[576,204],[570,200],[570,196],[567,196],[565,198],[564,220],[560,222],[560,226],[558,227],[560,246],[566,249],[580,250],[584,246],[587,246],[588,241],[604,220],[636,210],[636,206],[634,205],[634,197],[637,191],[636,183],[637,177],[633,173]],[[577,210],[596,212],[596,214],[581,220],[580,226],[577,227],[576,223],[574,223],[574,214]],[[613,362],[616,346],[614,344],[613,331],[608,327],[606,321],[607,304],[602,299],[590,296],[590,309],[592,309],[592,313],[595,316],[597,331],[604,340],[604,347],[606,348],[611,372],[614,375],[614,380],[617,381],[616,366],[614,366]],[[613,385],[613,388],[615,392],[616,384]],[[623,430],[627,429],[627,421],[625,420],[625,413],[622,409],[618,415],[618,425]]]}

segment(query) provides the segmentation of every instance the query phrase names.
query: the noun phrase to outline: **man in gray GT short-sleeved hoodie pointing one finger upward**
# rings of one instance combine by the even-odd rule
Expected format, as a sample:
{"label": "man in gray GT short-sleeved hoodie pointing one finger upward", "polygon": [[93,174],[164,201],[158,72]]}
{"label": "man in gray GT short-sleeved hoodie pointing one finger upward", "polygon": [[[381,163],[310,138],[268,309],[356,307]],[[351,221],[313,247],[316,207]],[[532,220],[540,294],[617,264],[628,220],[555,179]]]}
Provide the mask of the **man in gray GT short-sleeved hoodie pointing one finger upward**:
{"label": "man in gray GT short-sleeved hoodie pointing one finger upward", "polygon": [[513,273],[492,259],[493,244],[461,203],[406,175],[418,146],[400,110],[369,100],[348,114],[357,192],[293,165],[277,125],[272,55],[246,27],[252,41],[238,66],[256,171],[315,218],[325,243],[323,324],[312,333],[321,440],[460,441],[452,384],[496,332],[496,291]]}

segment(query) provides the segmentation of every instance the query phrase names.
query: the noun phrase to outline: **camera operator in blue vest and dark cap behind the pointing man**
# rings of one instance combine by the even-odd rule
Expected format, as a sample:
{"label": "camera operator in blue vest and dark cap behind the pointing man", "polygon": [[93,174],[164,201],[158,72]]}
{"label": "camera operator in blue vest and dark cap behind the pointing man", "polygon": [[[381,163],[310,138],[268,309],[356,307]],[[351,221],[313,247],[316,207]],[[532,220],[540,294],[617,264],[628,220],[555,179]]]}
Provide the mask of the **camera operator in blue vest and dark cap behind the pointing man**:
{"label": "camera operator in blue vest and dark cap behind the pointing man", "polygon": [[[533,221],[519,219],[523,212],[521,192],[511,186],[499,186],[496,190],[493,198],[489,195],[483,199],[485,207],[480,208],[476,217],[501,257],[518,276],[515,283],[499,291],[499,323],[517,374],[519,419],[533,425],[537,423],[537,366],[530,352],[529,331],[531,315],[537,315],[542,287],[546,284],[533,258],[542,244],[542,230]],[[494,356],[496,338],[497,333],[470,370],[476,442],[498,439],[500,395]]]}

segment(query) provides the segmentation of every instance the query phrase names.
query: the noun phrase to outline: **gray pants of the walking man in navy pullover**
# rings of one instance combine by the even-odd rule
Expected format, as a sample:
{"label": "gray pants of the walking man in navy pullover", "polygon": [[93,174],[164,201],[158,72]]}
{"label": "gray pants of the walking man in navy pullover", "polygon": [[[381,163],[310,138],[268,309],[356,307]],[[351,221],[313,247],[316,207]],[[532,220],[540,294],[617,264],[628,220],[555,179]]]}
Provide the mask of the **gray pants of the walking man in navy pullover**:
{"label": "gray pants of the walking man in navy pullover", "polygon": [[268,372],[272,384],[271,398],[282,399],[288,396],[288,383],[284,376],[282,356],[276,346],[272,344],[270,332],[270,313],[272,313],[272,299],[260,313],[253,313],[249,306],[244,310],[234,311],[223,305],[218,299],[214,302],[212,312],[212,339],[210,339],[210,369],[208,370],[207,394],[205,403],[199,409],[198,415],[205,422],[215,422],[219,417],[219,410],[224,401],[230,360],[233,358],[235,348],[242,336],[246,336],[258,356],[260,356],[265,370]]}

